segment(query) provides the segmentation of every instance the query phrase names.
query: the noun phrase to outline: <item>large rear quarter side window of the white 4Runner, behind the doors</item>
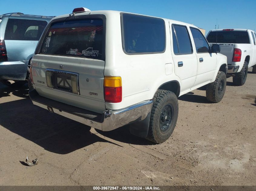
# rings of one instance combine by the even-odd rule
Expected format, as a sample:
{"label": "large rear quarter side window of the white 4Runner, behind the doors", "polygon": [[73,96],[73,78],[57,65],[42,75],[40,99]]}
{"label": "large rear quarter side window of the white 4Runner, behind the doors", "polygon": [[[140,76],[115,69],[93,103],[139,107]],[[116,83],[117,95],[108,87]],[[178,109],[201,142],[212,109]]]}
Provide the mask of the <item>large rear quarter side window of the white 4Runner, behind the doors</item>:
{"label": "large rear quarter side window of the white 4Runner, behind the doors", "polygon": [[165,22],[160,18],[122,15],[123,49],[128,54],[165,51]]}

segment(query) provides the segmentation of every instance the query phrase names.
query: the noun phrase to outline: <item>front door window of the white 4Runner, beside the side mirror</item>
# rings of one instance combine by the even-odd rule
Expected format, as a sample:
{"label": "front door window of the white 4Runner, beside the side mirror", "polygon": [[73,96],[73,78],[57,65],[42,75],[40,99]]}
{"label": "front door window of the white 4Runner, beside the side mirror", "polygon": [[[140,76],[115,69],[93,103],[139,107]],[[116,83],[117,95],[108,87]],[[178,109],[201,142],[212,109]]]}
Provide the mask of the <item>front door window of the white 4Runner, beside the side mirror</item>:
{"label": "front door window of the white 4Runner, beside the side mirror", "polygon": [[209,45],[200,30],[190,27],[197,53],[209,52]]}

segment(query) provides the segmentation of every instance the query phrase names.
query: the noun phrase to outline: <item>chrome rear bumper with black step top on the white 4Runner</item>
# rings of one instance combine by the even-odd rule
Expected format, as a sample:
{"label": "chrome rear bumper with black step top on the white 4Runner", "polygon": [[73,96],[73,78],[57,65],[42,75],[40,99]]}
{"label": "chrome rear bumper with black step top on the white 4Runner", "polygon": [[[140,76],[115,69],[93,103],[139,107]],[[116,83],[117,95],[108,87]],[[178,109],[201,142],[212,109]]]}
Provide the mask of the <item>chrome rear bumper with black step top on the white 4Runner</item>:
{"label": "chrome rear bumper with black step top on the white 4Runner", "polygon": [[102,131],[111,131],[146,119],[153,105],[153,100],[146,100],[120,110],[106,110],[99,114],[42,97],[36,90],[29,91],[29,97],[36,106]]}

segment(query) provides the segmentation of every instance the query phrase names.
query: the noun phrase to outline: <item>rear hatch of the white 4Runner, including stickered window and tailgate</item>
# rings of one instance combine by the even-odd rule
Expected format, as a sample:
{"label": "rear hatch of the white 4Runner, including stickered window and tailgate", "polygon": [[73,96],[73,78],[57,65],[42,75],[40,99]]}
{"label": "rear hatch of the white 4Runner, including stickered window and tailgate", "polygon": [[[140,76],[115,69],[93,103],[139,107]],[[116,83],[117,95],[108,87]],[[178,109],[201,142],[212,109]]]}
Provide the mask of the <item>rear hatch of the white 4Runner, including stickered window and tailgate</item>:
{"label": "rear hatch of the white 4Runner, including stickered window and tailgate", "polygon": [[39,95],[97,113],[105,111],[105,17],[53,21],[32,61]]}

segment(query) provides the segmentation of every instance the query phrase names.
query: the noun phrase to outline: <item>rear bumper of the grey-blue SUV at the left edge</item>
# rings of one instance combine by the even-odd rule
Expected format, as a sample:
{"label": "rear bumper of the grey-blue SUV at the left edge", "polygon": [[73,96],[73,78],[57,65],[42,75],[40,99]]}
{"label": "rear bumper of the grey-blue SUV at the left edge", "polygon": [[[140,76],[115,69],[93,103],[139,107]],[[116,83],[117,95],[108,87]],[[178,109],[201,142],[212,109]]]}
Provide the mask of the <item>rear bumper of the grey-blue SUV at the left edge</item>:
{"label": "rear bumper of the grey-blue SUV at the left edge", "polygon": [[25,80],[28,65],[24,62],[0,62],[0,79],[2,80]]}

